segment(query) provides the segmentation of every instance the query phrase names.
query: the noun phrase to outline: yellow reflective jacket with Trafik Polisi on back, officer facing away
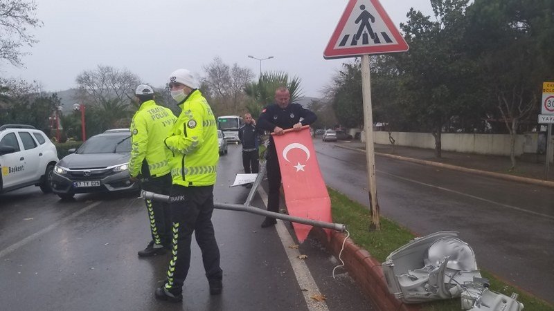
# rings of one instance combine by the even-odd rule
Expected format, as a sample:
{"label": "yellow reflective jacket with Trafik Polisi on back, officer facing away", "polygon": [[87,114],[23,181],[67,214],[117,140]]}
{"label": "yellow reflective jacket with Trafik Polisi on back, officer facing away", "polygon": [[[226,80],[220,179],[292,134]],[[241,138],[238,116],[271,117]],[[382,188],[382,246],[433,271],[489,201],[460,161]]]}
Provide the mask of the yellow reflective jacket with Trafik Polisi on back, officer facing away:
{"label": "yellow reflective jacket with Trafik Polisi on back, officer facing away", "polygon": [[158,106],[153,100],[141,104],[139,111],[131,122],[131,160],[129,173],[136,177],[159,177],[170,172],[166,147],[166,139],[177,117],[163,106]]}

